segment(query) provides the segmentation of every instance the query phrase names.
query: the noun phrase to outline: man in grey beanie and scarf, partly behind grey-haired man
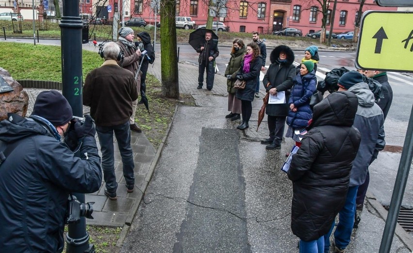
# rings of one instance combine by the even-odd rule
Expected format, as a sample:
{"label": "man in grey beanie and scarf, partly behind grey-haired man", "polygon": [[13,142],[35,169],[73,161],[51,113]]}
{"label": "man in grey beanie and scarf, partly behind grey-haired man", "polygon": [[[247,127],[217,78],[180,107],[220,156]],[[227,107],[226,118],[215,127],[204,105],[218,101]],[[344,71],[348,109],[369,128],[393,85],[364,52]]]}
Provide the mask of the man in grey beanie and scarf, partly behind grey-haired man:
{"label": "man in grey beanie and scarf, partly behind grey-haired man", "polygon": [[[129,70],[135,75],[139,68],[141,51],[137,49],[135,44],[133,43],[133,39],[135,38],[134,31],[130,27],[121,27],[118,30],[118,34],[119,40],[116,42],[116,44],[120,46],[125,56],[125,58],[123,59],[122,67]],[[138,74],[138,78],[136,79],[136,85],[139,91],[141,89],[141,73]],[[132,115],[130,116],[129,123],[130,130],[141,133],[141,128],[139,128],[138,125],[136,125],[135,123],[135,112],[137,105],[138,100],[133,101],[133,111]]]}

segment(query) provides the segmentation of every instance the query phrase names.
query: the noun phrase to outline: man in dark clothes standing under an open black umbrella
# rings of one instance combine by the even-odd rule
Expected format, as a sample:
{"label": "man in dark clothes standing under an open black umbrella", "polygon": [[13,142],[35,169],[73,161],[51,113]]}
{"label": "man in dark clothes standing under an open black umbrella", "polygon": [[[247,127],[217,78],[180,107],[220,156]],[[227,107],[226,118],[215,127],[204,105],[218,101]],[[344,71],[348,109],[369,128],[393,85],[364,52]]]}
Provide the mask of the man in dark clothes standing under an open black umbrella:
{"label": "man in dark clothes standing under an open black umbrella", "polygon": [[220,54],[218,51],[218,36],[211,30],[197,29],[192,32],[193,34],[205,34],[205,38],[199,37],[196,41],[191,40],[190,44],[197,42],[197,46],[194,47],[196,52],[199,53],[199,75],[198,75],[198,87],[196,89],[202,89],[204,82],[204,71],[206,70],[206,89],[211,90],[214,86],[215,77],[215,58]]}

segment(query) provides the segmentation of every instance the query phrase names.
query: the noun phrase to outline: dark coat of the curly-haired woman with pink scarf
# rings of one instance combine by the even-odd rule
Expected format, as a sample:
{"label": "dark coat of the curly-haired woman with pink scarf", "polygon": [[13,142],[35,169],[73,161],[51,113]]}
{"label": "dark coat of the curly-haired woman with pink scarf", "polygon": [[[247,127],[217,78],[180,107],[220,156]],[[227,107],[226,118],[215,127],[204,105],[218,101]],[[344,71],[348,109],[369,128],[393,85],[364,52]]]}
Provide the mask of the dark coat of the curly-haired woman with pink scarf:
{"label": "dark coat of the curly-haired woman with pink scarf", "polygon": [[243,80],[246,81],[246,84],[245,89],[237,90],[237,92],[235,93],[235,97],[237,97],[240,100],[254,101],[255,87],[257,85],[257,76],[261,72],[261,62],[262,57],[260,55],[255,57],[255,59],[250,62],[250,72],[244,73],[244,59],[242,59],[241,66],[239,67],[237,75],[241,74]]}

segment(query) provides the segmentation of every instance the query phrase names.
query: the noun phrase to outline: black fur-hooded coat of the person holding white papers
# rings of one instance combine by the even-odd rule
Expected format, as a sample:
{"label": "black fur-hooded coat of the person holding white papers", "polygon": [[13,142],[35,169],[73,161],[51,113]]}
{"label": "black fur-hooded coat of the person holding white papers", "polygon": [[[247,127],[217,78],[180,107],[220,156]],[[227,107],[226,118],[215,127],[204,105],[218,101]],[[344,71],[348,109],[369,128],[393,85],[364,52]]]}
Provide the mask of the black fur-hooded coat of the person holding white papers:
{"label": "black fur-hooded coat of the person holding white papers", "polygon": [[[279,62],[278,57],[281,52],[286,53],[286,62]],[[293,80],[295,77],[294,65],[294,52],[285,45],[279,45],[270,54],[271,65],[264,75],[262,83],[267,92],[272,88],[277,88],[277,91],[286,91],[286,103],[285,104],[267,104],[265,113],[270,116],[282,116],[286,117],[288,114],[289,106],[288,100],[290,97],[290,89],[293,86]],[[267,84],[270,85],[267,87]]]}

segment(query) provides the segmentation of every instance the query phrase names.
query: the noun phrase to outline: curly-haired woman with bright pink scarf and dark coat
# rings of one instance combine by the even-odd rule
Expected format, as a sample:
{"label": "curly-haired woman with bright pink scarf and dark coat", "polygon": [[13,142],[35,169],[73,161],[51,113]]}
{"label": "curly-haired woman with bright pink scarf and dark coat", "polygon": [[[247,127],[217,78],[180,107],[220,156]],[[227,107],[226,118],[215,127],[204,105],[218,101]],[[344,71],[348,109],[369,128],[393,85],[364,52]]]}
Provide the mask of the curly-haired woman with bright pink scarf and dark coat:
{"label": "curly-haired woman with bright pink scarf and dark coat", "polygon": [[238,80],[244,80],[246,82],[245,89],[238,89],[235,94],[235,96],[241,100],[242,122],[237,127],[239,130],[244,130],[249,127],[248,122],[253,112],[252,102],[254,101],[256,77],[261,71],[262,62],[258,45],[250,43],[247,45],[246,51],[247,54],[244,56],[236,75]]}

